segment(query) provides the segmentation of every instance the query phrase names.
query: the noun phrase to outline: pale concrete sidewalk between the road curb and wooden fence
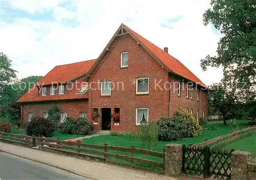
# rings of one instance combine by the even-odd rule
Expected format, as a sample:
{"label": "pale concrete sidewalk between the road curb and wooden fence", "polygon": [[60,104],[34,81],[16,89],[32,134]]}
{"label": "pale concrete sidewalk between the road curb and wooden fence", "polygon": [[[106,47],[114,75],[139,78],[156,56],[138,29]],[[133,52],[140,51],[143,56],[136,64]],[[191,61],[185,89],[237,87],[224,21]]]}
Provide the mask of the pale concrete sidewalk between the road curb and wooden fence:
{"label": "pale concrete sidewalk between the road curb and wooden fence", "polygon": [[0,151],[56,167],[94,179],[171,179],[176,178],[142,172],[104,163],[84,161],[70,156],[0,142]]}

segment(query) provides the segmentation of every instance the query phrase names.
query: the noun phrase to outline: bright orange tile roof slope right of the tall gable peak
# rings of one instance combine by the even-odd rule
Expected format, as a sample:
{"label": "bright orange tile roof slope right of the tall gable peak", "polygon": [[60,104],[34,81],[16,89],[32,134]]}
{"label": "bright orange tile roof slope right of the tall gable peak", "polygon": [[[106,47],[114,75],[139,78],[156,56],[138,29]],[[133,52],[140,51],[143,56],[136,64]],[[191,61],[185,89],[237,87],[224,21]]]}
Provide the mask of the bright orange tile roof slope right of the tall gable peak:
{"label": "bright orange tile roof slope right of the tall gable peak", "polygon": [[157,47],[153,43],[147,41],[144,37],[134,32],[129,27],[122,24],[120,27],[123,27],[127,32],[129,32],[144,48],[146,48],[148,51],[150,51],[153,55],[157,57],[157,59],[160,60],[163,65],[166,66],[166,68],[170,72],[174,72],[175,74],[178,74],[182,77],[185,77],[186,79],[198,83],[199,85],[206,87],[207,86],[200,81],[200,79],[193,74],[189,69],[187,69],[178,59],[174,58],[173,56],[169,55],[165,51],[163,51],[161,48]]}

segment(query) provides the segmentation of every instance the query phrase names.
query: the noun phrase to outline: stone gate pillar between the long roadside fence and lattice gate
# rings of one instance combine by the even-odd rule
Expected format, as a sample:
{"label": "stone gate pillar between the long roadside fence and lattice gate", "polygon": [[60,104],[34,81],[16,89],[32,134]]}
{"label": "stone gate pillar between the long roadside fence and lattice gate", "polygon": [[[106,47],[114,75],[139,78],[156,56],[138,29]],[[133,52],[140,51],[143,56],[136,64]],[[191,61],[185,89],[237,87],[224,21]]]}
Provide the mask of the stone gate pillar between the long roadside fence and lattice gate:
{"label": "stone gate pillar between the long roadside fence and lattice gate", "polygon": [[165,145],[165,175],[179,176],[181,174],[182,146],[179,144]]}

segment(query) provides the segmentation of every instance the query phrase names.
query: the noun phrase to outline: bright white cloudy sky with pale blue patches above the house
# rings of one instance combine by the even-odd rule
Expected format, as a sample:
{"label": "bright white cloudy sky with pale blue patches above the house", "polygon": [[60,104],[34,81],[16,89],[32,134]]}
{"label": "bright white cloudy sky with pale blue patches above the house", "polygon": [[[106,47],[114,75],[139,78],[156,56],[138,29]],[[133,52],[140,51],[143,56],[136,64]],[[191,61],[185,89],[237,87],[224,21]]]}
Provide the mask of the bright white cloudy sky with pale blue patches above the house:
{"label": "bright white cloudy sky with pale blue patches above the house", "polygon": [[218,83],[221,68],[203,71],[222,35],[203,25],[210,0],[0,0],[0,52],[18,78],[46,75],[56,65],[95,59],[121,23],[181,61],[203,83]]}

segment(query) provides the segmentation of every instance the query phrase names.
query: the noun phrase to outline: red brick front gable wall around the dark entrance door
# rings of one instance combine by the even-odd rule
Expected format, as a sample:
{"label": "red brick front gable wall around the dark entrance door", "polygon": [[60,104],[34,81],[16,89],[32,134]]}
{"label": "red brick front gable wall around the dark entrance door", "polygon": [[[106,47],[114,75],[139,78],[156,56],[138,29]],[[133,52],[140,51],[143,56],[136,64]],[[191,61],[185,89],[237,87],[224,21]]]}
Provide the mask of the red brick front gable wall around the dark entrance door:
{"label": "red brick front gable wall around the dark entrance door", "polygon": [[[89,90],[89,117],[91,117],[92,108],[120,108],[120,125],[115,130],[127,132],[136,129],[136,108],[148,108],[150,121],[159,119],[162,116],[168,116],[168,91],[154,88],[155,79],[162,83],[168,81],[168,72],[160,67],[153,57],[148,54],[137,42],[128,34],[116,39],[109,48],[100,65],[92,74],[89,83],[109,80],[114,82],[123,82],[123,90],[119,86],[111,91],[111,96],[101,97],[100,89]],[[121,52],[129,52],[129,67],[120,68]],[[136,95],[136,85],[132,80],[138,77],[149,77],[149,94]],[[92,84],[92,89],[97,85]],[[100,86],[99,86],[100,87]],[[99,109],[100,110],[100,109]],[[99,111],[100,113],[100,111]],[[99,118],[100,119],[100,118]],[[100,121],[100,120],[99,120]],[[98,129],[101,129],[100,123]],[[112,122],[113,129],[113,122]]]}

